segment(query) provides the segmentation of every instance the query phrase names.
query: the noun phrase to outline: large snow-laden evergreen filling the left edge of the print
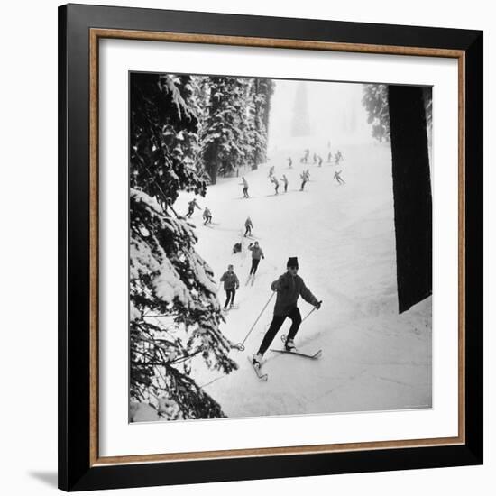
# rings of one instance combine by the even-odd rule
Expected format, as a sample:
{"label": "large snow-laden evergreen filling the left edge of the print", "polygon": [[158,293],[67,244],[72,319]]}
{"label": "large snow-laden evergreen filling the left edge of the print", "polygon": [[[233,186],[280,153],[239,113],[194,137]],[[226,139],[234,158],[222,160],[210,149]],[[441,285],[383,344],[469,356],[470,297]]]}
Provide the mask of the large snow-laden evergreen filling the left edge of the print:
{"label": "large snow-laden evergreen filling the left edge of the print", "polygon": [[131,77],[131,400],[167,419],[224,416],[190,377],[193,356],[225,373],[237,368],[219,330],[213,272],[195,252],[193,227],[173,207],[180,190],[205,195],[207,188],[195,162],[192,98],[189,77]]}

